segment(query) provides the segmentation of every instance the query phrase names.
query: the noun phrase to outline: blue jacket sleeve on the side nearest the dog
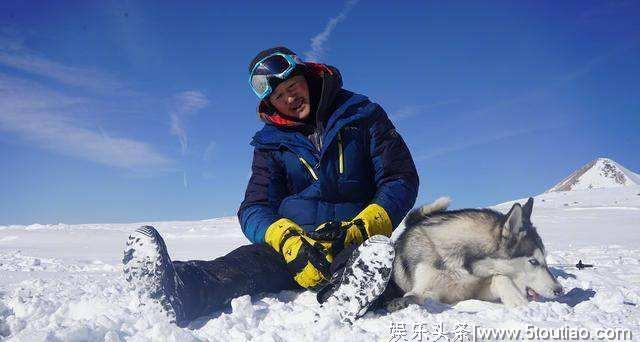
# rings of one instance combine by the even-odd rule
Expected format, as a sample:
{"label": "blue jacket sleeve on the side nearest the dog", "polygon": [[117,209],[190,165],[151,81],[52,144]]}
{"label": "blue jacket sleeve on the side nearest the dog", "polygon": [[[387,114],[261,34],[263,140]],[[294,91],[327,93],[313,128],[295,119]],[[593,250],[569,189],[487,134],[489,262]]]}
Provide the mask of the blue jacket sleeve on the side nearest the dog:
{"label": "blue jacket sleeve on the side nearest the dog", "polygon": [[387,113],[377,104],[369,123],[369,153],[375,172],[373,203],[389,214],[397,227],[413,207],[418,196],[418,173],[409,148]]}

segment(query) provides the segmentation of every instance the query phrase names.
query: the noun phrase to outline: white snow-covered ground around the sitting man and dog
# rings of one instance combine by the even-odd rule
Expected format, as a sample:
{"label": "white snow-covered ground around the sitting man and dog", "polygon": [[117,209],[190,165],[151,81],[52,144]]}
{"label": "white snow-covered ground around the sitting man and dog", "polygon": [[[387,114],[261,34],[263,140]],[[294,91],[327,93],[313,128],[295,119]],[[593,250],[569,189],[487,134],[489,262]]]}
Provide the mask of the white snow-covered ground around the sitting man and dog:
{"label": "white snow-covered ground around the sitting man and dog", "polygon": [[[511,204],[496,208],[504,212]],[[423,323],[442,324],[448,332],[458,324],[625,328],[639,339],[640,187],[545,193],[536,197],[532,220],[567,292],[558,301],[516,309],[474,300],[411,305],[391,314],[368,313],[348,326],[339,322],[336,310],[319,306],[314,294],[285,291],[239,297],[228,312],[213,313],[186,329],[128,291],[121,275],[125,240],[138,226],[151,224],[174,260],[211,259],[247,243],[235,218],[0,226],[0,340],[402,341],[391,328],[406,324],[404,340],[415,341],[413,325]],[[579,259],[596,267],[570,266]]]}

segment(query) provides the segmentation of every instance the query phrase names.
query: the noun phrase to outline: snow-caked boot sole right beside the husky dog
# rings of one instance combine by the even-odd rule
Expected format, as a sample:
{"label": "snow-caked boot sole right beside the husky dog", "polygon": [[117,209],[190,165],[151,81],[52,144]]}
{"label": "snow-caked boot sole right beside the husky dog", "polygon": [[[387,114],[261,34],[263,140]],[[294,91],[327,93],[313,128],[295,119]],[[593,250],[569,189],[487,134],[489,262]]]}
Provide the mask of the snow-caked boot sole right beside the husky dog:
{"label": "snow-caked boot sole right beside the husky dog", "polygon": [[353,324],[386,289],[394,257],[388,237],[372,236],[353,251],[343,272],[334,274],[329,285],[318,292],[318,302],[335,304],[340,318]]}

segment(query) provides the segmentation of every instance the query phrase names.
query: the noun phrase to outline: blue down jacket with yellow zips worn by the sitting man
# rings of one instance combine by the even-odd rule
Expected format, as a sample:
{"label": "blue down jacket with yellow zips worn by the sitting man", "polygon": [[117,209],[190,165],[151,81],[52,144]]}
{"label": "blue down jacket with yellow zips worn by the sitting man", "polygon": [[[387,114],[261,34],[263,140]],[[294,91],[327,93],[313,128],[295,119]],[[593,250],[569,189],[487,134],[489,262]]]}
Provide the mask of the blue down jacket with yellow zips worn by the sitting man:
{"label": "blue down jacket with yellow zips worn by the sitting man", "polygon": [[[413,159],[387,114],[342,89],[339,72],[331,70],[321,75],[316,115],[328,112],[319,125],[320,148],[303,132],[273,122],[253,137],[252,176],[238,210],[253,243],[264,243],[269,225],[282,217],[312,231],[326,221],[350,220],[371,203],[386,209],[395,228],[416,200]],[[322,103],[327,99],[331,103]]]}

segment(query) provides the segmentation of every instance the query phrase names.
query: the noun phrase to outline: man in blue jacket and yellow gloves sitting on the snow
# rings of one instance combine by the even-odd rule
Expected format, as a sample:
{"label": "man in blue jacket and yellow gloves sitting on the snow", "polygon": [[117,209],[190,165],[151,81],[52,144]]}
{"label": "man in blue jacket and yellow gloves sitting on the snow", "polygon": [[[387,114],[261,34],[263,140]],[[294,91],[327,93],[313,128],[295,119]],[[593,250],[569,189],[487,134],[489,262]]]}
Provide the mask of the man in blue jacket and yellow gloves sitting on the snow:
{"label": "man in blue jacket and yellow gloves sitting on the snow", "polygon": [[213,261],[172,262],[158,232],[131,234],[127,281],[184,326],[232,298],[305,288],[362,316],[391,277],[389,236],[413,206],[416,169],[384,110],[339,71],[285,47],[260,52],[249,83],[265,123],[238,218],[252,242]]}

